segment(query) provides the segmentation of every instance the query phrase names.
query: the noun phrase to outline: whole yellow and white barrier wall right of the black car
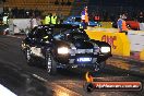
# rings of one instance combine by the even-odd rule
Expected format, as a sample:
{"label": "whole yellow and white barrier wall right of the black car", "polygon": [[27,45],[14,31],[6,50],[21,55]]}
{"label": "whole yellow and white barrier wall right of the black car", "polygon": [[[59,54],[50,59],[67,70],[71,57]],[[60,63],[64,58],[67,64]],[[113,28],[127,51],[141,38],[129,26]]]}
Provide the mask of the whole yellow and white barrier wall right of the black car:
{"label": "whole yellow and white barrier wall right of the black car", "polygon": [[117,28],[88,28],[86,31],[92,39],[107,41],[111,45],[112,55],[130,56],[130,52],[140,53],[144,60],[144,31],[129,31],[128,35],[118,33]]}

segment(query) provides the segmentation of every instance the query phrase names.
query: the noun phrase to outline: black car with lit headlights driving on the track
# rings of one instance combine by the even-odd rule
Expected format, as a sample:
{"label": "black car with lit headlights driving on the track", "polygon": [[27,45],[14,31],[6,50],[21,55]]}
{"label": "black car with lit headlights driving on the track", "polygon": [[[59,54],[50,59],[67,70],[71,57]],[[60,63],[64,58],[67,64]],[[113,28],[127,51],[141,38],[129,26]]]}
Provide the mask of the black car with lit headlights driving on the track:
{"label": "black car with lit headlights driving on the track", "polygon": [[72,25],[39,25],[22,41],[27,63],[40,62],[50,74],[58,68],[101,70],[111,57],[110,45],[91,39],[85,31]]}

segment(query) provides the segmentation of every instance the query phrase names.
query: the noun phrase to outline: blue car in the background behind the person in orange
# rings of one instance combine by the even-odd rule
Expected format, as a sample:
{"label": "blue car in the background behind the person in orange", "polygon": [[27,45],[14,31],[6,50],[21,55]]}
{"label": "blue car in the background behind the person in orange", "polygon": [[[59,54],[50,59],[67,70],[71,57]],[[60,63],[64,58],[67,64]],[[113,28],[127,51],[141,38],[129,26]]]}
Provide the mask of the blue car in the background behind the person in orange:
{"label": "blue car in the background behind the person in orange", "polygon": [[[63,24],[82,26],[81,16],[70,16],[63,22]],[[101,24],[98,22],[89,21],[88,26],[101,26]]]}

